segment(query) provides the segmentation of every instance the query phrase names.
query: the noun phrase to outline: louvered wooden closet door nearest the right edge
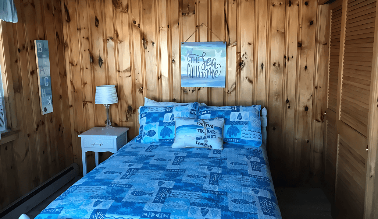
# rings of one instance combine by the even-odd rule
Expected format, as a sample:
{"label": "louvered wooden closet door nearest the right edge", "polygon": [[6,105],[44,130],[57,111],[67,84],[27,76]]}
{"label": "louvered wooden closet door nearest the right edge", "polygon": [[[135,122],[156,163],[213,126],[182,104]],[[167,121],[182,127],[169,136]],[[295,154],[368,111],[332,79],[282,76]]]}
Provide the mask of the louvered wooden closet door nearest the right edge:
{"label": "louvered wooden closet door nearest the right edge", "polygon": [[[366,136],[372,72],[376,0],[348,0],[337,121],[336,205],[345,218],[363,218]],[[343,20],[343,19],[342,19]],[[341,34],[343,35],[343,34]],[[336,113],[337,115],[338,113]]]}

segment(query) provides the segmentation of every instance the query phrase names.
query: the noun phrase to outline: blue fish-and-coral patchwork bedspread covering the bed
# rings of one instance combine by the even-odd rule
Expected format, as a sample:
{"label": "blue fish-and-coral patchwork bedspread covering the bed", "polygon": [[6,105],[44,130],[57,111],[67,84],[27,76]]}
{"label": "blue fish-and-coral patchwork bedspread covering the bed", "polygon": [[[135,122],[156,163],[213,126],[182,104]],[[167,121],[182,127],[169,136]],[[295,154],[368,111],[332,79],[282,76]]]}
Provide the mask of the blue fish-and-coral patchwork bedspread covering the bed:
{"label": "blue fish-and-coral patchwork bedspread covering the bed", "polygon": [[37,219],[281,219],[264,146],[173,149],[135,139]]}

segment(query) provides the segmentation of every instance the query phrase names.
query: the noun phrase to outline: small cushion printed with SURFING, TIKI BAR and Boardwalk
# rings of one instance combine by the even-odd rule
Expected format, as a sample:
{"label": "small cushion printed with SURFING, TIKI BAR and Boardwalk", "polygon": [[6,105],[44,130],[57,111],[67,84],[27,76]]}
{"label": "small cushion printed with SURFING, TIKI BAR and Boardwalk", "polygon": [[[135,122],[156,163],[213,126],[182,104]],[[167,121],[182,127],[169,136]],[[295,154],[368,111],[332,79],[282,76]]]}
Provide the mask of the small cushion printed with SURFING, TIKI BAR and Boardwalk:
{"label": "small cushion printed with SURFING, TIKI BAR and Boardwalk", "polygon": [[176,136],[173,148],[197,147],[223,149],[225,119],[176,118]]}

